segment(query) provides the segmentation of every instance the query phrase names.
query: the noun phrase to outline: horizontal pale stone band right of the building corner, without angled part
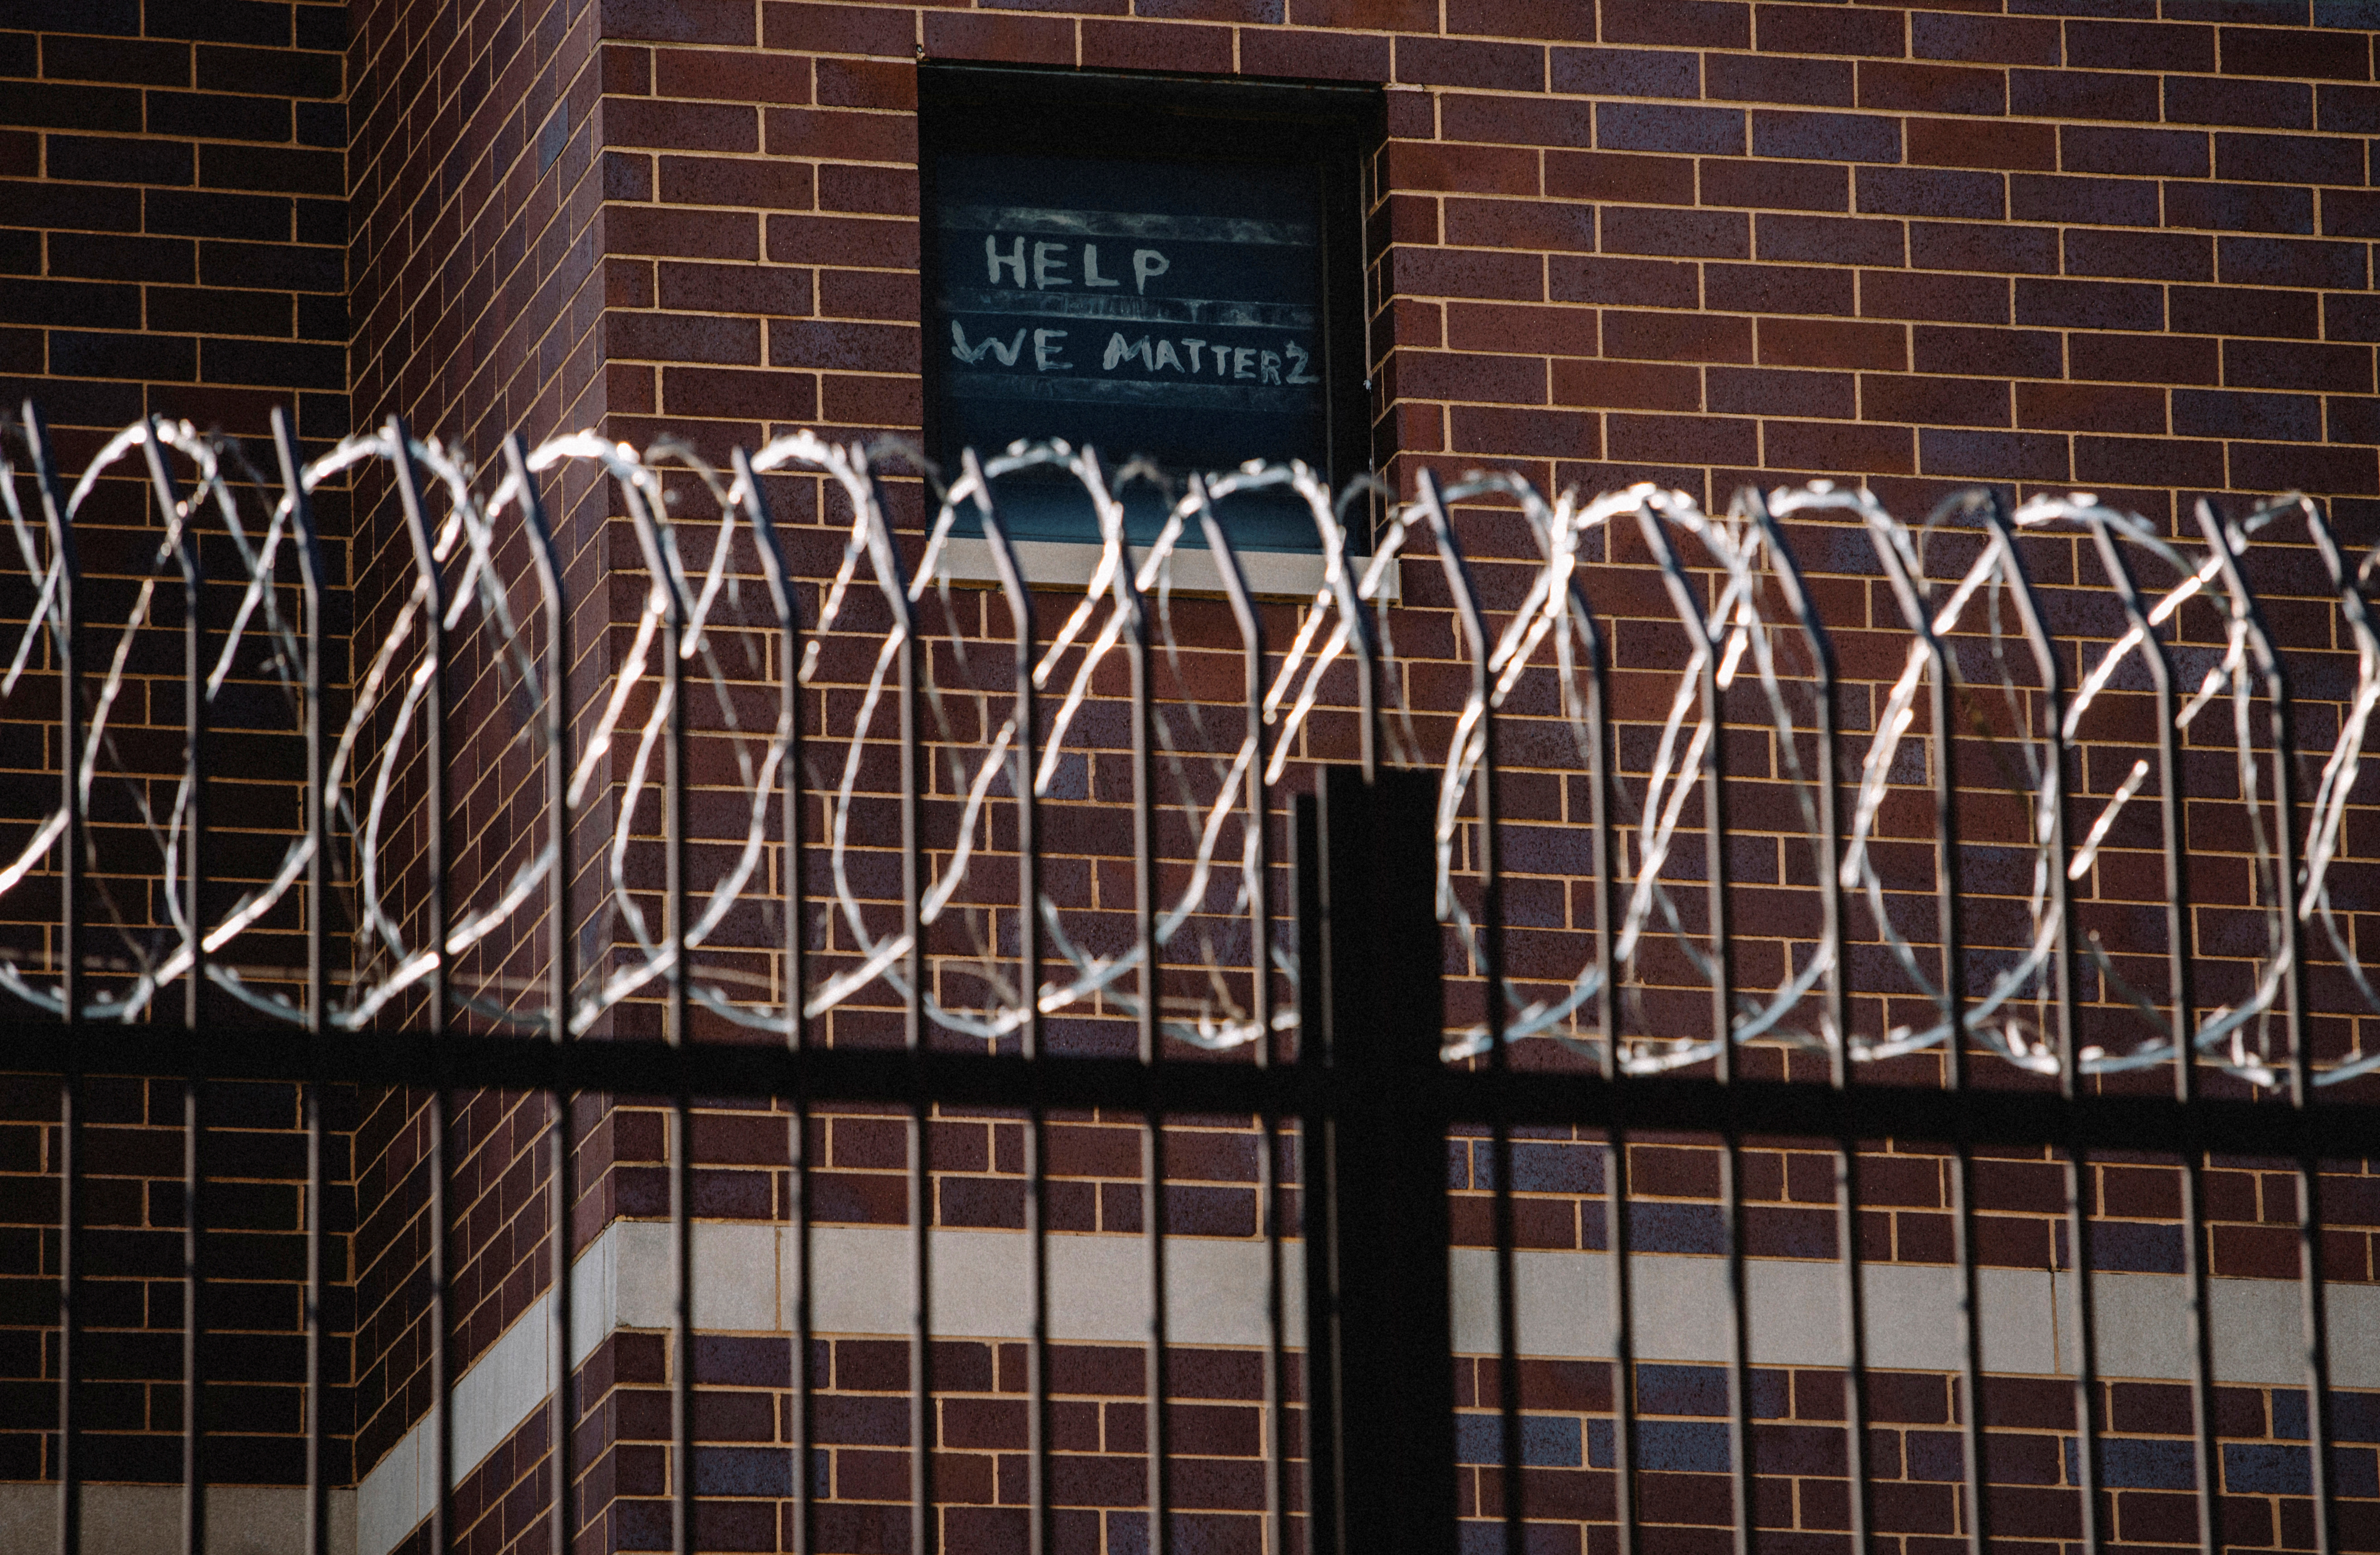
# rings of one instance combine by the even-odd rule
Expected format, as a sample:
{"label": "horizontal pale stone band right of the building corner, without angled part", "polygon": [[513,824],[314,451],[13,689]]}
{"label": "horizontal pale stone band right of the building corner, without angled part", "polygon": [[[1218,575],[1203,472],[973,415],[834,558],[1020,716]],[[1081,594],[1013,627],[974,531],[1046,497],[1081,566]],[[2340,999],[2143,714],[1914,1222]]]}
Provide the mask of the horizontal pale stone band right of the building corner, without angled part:
{"label": "horizontal pale stone band right of the building corner, without angled part", "polygon": [[[907,1334],[909,1231],[819,1226],[812,1234],[812,1329]],[[695,1226],[695,1326],[788,1331],[800,1279],[790,1226]],[[933,1331],[945,1338],[1031,1334],[1031,1241],[1019,1231],[933,1234]],[[1521,1353],[1611,1357],[1611,1257],[1516,1253]],[[1637,1253],[1630,1257],[1640,1360],[1728,1355],[1726,1260]],[[1304,1345],[1304,1248],[1283,1243],[1283,1338]],[[1457,1248],[1454,1350],[1497,1350],[1495,1253]],[[676,1260],[666,1222],[614,1222],[578,1260],[581,1334],[593,1324],[666,1329]],[[1942,1264],[1864,1264],[1868,1364],[1909,1372],[1959,1367],[1959,1274]],[[1835,1367],[1844,1357],[1842,1274],[1835,1262],[1747,1260],[1752,1360]],[[1254,1241],[1166,1243],[1169,1341],[1264,1345],[1266,1250]],[[2235,1384],[2306,1381],[2299,1286],[2287,1279],[2213,1279],[2216,1376]],[[1150,1336],[1147,1248],[1138,1236],[1050,1238],[1050,1336],[1066,1343],[1142,1343]],[[1057,1293],[1064,1293],[1057,1298]],[[1990,1372],[2075,1372],[2073,1274],[1983,1269],[1983,1360]],[[2187,1379],[2187,1281],[2173,1274],[2097,1274],[2099,1374]],[[526,1322],[514,1329],[519,1334]],[[507,1341],[512,1334],[507,1334]],[[543,1341],[538,1341],[543,1345]],[[481,1364],[488,1364],[486,1360]],[[474,1369],[476,1372],[476,1369]],[[2380,1388],[2380,1286],[2330,1286],[2330,1376],[2342,1388]],[[462,1391],[457,1388],[457,1400]],[[459,1405],[457,1405],[459,1407]]]}

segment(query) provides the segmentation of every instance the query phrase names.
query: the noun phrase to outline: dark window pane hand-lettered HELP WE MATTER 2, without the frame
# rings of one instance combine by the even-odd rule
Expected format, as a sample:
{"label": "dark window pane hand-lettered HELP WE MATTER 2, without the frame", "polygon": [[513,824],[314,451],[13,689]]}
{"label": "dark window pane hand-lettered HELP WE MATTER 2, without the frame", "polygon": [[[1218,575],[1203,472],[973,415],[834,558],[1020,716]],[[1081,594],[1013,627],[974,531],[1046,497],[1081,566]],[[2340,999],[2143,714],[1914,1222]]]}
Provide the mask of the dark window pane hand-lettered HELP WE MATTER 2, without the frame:
{"label": "dark window pane hand-lettered HELP WE MATTER 2, without the frame", "polygon": [[1328,467],[1311,169],[959,152],[928,231],[938,448]]}

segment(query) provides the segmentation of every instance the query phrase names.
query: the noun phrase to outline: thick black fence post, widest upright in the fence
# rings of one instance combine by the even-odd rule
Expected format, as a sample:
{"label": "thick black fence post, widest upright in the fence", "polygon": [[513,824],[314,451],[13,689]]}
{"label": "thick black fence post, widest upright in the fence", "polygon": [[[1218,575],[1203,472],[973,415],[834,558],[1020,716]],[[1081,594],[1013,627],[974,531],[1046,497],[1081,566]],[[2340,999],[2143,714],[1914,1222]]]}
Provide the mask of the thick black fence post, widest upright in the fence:
{"label": "thick black fence post, widest upright in the fence", "polygon": [[1297,798],[1314,1555],[1454,1550],[1435,807],[1426,772]]}

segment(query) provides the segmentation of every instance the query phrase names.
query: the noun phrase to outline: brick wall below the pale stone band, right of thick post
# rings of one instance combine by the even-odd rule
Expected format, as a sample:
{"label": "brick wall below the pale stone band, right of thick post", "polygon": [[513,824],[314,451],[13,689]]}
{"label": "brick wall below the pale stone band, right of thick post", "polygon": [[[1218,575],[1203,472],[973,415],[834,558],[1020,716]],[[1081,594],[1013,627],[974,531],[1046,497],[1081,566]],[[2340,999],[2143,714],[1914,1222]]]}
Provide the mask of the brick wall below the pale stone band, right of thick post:
{"label": "brick wall below the pale stone band, right of thick post", "polygon": [[[1459,1369],[1459,1455],[1464,1515],[1497,1517],[1502,1460],[1495,1410],[1497,1367]],[[1752,1374],[1754,1526],[1761,1548],[1847,1548],[1849,1469],[1842,1445],[1842,1374],[1759,1367]],[[1637,1495],[1645,1541],[1664,1550],[1730,1548],[1726,1476],[1728,1381],[1721,1367],[1659,1364],[1637,1369]],[[2342,1398],[2337,1441],[2380,1438],[2370,1398]],[[1580,1362],[1523,1362],[1521,1407],[1530,1510],[1530,1548],[1592,1550],[1590,1519],[1614,1515],[1611,1369]],[[2306,1403],[2292,1388],[2218,1388],[2225,1491],[2216,1538],[2225,1548],[2306,1548],[2313,1524],[2304,1498]],[[2197,1543],[2190,1467],[2187,1388],[2104,1384],[2102,1536],[2123,1545]],[[1961,1410],[1956,1384],[1914,1372],[1868,1379],[1868,1472],[1873,1536],[1892,1548],[1961,1543]],[[2059,1548],[2082,1534],[2075,1469],[2075,1395],[2068,1381],[1994,1376],[1983,1391],[1990,1462],[1992,1536],[2018,1548]],[[2063,1436],[2061,1436],[2063,1434]],[[2180,1441],[2178,1441],[2180,1438]],[[2373,1450],[2335,1448],[2342,1495],[2368,1495]],[[1599,1472],[1602,1469],[1602,1472]],[[1716,1469],[1716,1472],[1714,1472]],[[2292,1491],[2297,1495],[2292,1495]],[[1480,1526],[1480,1524],[1471,1524]],[[1492,1526],[1492,1524],[1490,1524]],[[2380,1531],[2370,1507],[2342,1505],[2342,1548],[2363,1548]],[[1488,1548],[1495,1548],[1492,1543]]]}

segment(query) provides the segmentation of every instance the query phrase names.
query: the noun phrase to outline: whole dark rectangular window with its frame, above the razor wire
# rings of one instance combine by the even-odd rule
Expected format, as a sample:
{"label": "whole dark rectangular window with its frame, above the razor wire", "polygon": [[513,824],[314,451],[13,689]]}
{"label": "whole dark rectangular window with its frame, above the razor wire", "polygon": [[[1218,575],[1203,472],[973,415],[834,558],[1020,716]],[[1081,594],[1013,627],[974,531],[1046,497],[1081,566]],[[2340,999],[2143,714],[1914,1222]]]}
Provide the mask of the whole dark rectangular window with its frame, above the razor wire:
{"label": "whole dark rectangular window with its frame, above the razor wire", "polygon": [[[1109,469],[1150,460],[1176,491],[1247,460],[1304,460],[1333,486],[1361,474],[1378,112],[1371,88],[921,67],[933,460],[954,472],[962,448],[1066,438]],[[1061,479],[997,495],[1035,552],[1097,543]],[[1130,536],[1164,512],[1138,488]],[[1319,550],[1288,493],[1219,512],[1240,550]]]}

